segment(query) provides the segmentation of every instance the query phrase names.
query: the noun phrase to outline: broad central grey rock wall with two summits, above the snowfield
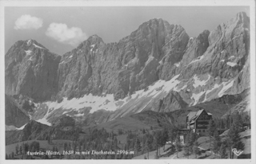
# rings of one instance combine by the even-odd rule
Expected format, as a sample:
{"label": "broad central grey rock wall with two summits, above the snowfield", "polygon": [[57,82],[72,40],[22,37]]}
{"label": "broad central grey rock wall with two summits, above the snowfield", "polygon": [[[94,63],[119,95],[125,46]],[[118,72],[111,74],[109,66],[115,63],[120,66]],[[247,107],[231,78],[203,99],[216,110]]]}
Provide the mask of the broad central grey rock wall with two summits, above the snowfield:
{"label": "broad central grey rock wall with two summits, above the snowfield", "polygon": [[[180,25],[153,19],[118,43],[105,44],[96,35],[62,56],[59,96],[114,94],[123,99],[159,79],[174,76],[189,40]],[[170,71],[173,69],[173,71]]]}

